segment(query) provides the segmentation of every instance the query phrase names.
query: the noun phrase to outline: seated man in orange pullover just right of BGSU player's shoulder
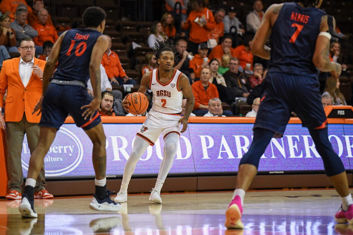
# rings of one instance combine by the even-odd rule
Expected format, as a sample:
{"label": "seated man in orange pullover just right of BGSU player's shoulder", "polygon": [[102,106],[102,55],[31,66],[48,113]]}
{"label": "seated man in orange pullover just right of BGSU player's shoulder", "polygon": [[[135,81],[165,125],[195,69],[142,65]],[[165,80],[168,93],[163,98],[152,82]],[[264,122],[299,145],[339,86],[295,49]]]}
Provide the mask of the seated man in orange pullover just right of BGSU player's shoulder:
{"label": "seated man in orange pullover just right of BGSU player's shoulder", "polygon": [[191,85],[192,93],[195,96],[195,106],[192,111],[196,115],[205,115],[208,113],[208,101],[212,98],[219,98],[216,85],[210,83],[211,70],[203,68],[199,81]]}

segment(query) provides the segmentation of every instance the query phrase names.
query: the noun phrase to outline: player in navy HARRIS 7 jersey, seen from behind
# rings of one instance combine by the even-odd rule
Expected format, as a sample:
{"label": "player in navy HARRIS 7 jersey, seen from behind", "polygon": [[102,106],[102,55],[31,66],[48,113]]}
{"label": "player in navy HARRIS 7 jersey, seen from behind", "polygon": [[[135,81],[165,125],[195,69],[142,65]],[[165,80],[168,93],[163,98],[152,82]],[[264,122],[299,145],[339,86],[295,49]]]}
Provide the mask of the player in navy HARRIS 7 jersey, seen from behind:
{"label": "player in navy HARRIS 7 jersey, seen from behind", "polygon": [[[241,221],[245,191],[257,173],[260,157],[273,137],[282,137],[291,112],[309,129],[322,157],[326,175],[342,199],[335,215],[339,223],[353,223],[353,202],[345,168],[328,140],[327,118],[321,104],[318,71],[339,76],[341,66],[330,62],[328,53],[334,31],[333,17],[318,9],[323,0],[297,0],[274,4],[251,44],[254,55],[270,59],[263,85],[261,105],[249,151],[239,163],[237,185],[226,211],[227,228],[244,228]],[[271,49],[264,45],[271,39]]]}

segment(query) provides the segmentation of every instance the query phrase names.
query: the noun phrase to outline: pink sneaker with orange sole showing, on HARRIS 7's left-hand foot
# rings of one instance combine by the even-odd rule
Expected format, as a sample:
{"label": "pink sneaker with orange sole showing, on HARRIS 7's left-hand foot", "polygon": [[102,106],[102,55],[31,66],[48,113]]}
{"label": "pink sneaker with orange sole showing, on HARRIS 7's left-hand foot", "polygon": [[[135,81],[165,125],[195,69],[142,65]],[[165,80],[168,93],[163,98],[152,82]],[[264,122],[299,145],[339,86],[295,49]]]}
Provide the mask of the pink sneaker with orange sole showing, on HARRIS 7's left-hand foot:
{"label": "pink sneaker with orange sole showing, on HARRIS 7's left-hand foot", "polygon": [[226,228],[244,229],[244,224],[241,222],[241,214],[243,214],[243,206],[239,195],[235,196],[226,211]]}

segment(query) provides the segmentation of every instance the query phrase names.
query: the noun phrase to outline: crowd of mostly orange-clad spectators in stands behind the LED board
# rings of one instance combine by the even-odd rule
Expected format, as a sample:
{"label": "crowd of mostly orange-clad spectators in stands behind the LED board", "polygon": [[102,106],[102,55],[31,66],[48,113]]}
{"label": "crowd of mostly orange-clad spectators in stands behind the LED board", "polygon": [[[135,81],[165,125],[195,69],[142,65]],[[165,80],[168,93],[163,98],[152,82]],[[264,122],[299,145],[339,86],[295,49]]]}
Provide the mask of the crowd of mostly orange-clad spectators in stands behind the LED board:
{"label": "crowd of mostly orange-clad spectators in stands behind the LED board", "polygon": [[[263,20],[264,4],[261,0],[253,1],[252,10],[241,18],[238,16],[241,6],[236,2],[231,4],[227,1],[225,6],[216,8],[209,7],[209,2],[211,1],[166,0],[166,12],[162,14],[160,21],[149,24],[145,22],[147,26],[138,26],[132,22],[132,25],[124,27],[124,22],[120,23],[119,29],[131,31],[136,28],[136,33],[145,32],[142,37],[125,36],[127,39],[121,41],[118,38],[120,36],[116,36],[119,32],[112,32],[112,27],[109,26],[106,31],[109,47],[102,58],[102,78],[107,79],[102,84],[102,91],[113,92],[107,96],[114,97],[114,105],[110,109],[115,115],[126,114],[121,108],[122,97],[131,90],[126,87],[138,88],[141,76],[158,68],[151,48],[154,48],[156,40],[164,41],[167,38],[174,41],[176,48],[174,68],[185,74],[192,85],[196,98],[193,112],[196,115],[239,115],[239,109],[243,105],[252,106],[249,115],[256,115],[259,104],[257,98],[261,97],[268,61],[253,56],[250,47]],[[180,4],[180,8],[177,5],[177,10],[174,10],[176,3]],[[2,61],[11,58],[12,52],[19,52],[18,42],[24,37],[32,38],[36,55],[41,60],[47,60],[62,29],[53,24],[43,0],[34,0],[32,7],[25,0],[2,0],[0,11],[0,66]],[[82,26],[79,20],[76,22],[72,27]],[[124,35],[123,32],[120,31],[120,34]],[[344,37],[347,38],[347,35]],[[125,45],[126,51],[119,48]],[[139,48],[143,51],[140,54],[137,53]],[[349,78],[347,70],[351,65],[346,64],[347,57],[342,53],[338,41],[332,42],[329,58],[342,64],[342,75]],[[136,75],[133,68],[139,75]],[[320,78],[324,79],[321,87],[323,104],[324,101],[325,104],[332,105],[347,104],[347,101],[350,104],[351,97],[340,92],[340,79],[330,77],[329,73],[320,73]],[[89,92],[93,95],[91,89]],[[223,110],[222,106],[226,109]],[[110,114],[108,112],[104,116]]]}

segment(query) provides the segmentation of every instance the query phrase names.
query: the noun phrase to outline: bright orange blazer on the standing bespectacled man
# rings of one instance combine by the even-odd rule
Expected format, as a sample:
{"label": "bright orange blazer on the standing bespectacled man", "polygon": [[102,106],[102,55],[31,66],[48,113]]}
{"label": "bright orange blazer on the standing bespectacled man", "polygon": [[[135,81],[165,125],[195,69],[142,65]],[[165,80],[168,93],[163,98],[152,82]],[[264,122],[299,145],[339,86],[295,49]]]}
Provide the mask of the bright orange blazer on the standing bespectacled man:
{"label": "bright orange blazer on the standing bespectacled man", "polygon": [[[41,115],[32,115],[34,106],[38,103],[42,95],[42,80],[32,72],[31,78],[24,87],[18,67],[20,57],[2,62],[0,72],[0,107],[7,89],[5,100],[5,122],[19,122],[26,112],[28,122],[39,123]],[[34,58],[34,64],[44,70],[46,61]]]}

